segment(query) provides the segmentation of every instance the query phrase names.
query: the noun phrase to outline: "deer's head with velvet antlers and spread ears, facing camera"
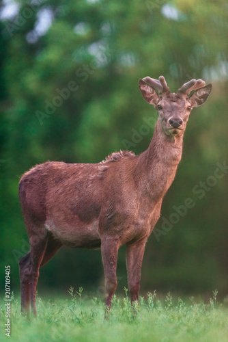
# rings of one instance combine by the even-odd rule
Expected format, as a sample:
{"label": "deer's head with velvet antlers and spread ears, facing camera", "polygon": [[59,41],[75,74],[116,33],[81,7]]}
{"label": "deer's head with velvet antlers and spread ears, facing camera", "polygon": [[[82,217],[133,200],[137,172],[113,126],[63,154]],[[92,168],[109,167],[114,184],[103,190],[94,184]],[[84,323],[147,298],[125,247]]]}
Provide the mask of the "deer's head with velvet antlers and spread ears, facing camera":
{"label": "deer's head with velvet antlers and spread ears, facing camera", "polygon": [[205,86],[205,81],[192,79],[175,94],[169,91],[165,77],[160,76],[159,79],[139,79],[139,88],[145,101],[158,111],[158,120],[165,134],[175,136],[184,134],[190,111],[193,107],[203,105],[212,90],[212,84]]}

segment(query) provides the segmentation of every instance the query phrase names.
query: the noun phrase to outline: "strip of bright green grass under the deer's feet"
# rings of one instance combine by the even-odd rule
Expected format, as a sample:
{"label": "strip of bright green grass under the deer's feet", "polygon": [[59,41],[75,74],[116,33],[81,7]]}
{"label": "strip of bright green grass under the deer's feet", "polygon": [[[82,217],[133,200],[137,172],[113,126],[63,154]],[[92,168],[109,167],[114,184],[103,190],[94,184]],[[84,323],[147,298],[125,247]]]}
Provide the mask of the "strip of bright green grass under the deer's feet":
{"label": "strip of bright green grass under the deer's feet", "polygon": [[[216,302],[214,291],[209,304],[173,301],[170,293],[158,300],[156,293],[141,298],[134,315],[126,296],[113,298],[109,321],[104,321],[104,304],[98,298],[83,299],[82,289],[70,289],[67,300],[37,299],[38,317],[20,315],[20,301],[11,304],[10,341],[177,341],[177,342],[223,342],[228,341],[228,309]],[[85,295],[84,295],[85,296]],[[1,302],[1,341],[4,336],[5,302]]]}

